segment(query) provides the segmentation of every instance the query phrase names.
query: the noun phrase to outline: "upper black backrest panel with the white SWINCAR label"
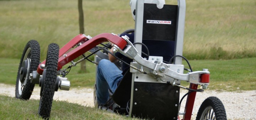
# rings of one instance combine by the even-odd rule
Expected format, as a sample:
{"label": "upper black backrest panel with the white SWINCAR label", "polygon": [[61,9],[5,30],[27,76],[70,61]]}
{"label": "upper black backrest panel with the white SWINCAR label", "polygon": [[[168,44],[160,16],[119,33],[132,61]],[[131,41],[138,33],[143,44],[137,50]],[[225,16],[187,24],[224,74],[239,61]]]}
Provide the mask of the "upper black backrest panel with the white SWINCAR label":
{"label": "upper black backrest panel with the white SWINCAR label", "polygon": [[142,39],[175,41],[177,9],[177,5],[159,9],[155,4],[144,4]]}

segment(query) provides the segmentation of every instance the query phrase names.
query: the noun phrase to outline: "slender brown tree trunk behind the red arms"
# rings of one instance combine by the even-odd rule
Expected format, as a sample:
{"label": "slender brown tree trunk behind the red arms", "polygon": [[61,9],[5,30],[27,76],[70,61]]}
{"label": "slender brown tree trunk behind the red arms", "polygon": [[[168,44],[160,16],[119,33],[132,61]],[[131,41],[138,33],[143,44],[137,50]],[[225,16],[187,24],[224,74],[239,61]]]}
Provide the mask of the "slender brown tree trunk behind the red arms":
{"label": "slender brown tree trunk behind the red arms", "polygon": [[[82,0],[78,0],[78,12],[79,12],[79,34],[84,34],[84,12],[82,9]],[[80,58],[84,58],[81,56]],[[86,71],[86,62],[85,60],[80,62],[81,67],[80,71],[84,72]]]}

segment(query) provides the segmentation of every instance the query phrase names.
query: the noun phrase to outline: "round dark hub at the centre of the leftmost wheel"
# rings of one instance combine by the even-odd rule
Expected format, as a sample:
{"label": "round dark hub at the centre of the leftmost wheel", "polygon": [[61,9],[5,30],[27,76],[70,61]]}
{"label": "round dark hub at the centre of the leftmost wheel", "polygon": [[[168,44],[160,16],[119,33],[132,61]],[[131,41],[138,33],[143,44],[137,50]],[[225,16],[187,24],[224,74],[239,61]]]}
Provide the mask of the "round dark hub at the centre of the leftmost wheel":
{"label": "round dark hub at the centre of the leftmost wheel", "polygon": [[21,68],[20,68],[20,82],[23,84],[27,78],[27,74],[29,72],[30,68],[30,59],[26,59],[22,62]]}

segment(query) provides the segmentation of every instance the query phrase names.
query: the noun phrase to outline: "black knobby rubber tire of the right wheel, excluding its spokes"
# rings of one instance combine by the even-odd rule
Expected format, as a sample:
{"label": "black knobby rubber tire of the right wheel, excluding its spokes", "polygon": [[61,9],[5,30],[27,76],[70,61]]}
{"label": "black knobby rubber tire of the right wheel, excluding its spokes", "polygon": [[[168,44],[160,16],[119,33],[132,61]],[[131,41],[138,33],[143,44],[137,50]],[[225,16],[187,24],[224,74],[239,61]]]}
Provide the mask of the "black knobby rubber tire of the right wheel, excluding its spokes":
{"label": "black knobby rubber tire of the right wheel, excluding its spokes", "polygon": [[204,109],[207,106],[212,106],[214,113],[215,113],[215,118],[216,120],[226,120],[226,110],[225,107],[223,105],[223,103],[219,100],[219,98],[217,97],[208,97],[206,98],[206,100],[203,101],[203,103],[201,104],[198,113],[197,113],[197,117],[196,120],[200,120],[200,117],[204,111]]}

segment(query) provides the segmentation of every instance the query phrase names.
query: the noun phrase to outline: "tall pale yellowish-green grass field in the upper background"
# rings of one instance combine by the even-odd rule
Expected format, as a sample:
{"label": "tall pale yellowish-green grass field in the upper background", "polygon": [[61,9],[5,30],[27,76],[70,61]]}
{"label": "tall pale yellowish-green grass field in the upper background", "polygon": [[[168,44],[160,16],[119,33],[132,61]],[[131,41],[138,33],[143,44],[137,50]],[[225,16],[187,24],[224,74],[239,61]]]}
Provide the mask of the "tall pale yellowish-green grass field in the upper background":
{"label": "tall pale yellowish-green grass field in the upper background", "polygon": [[[167,0],[177,4],[175,0]],[[256,57],[255,0],[187,0],[183,53],[188,59]],[[1,0],[0,56],[17,58],[37,40],[63,46],[79,34],[77,0]],[[134,28],[129,1],[83,2],[85,34],[121,33]]]}

